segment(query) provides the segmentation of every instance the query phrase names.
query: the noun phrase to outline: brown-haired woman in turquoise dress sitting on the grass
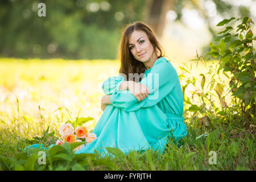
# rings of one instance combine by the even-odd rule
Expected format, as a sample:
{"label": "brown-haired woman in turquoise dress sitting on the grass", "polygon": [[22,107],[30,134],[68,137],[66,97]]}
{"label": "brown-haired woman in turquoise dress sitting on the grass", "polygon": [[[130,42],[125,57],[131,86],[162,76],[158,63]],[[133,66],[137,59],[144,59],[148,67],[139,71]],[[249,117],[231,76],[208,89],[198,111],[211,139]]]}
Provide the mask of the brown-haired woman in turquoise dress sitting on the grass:
{"label": "brown-haired woman in turquoise dress sitting on the grass", "polygon": [[151,148],[163,152],[167,140],[187,135],[183,93],[172,64],[163,57],[154,32],[135,22],[125,28],[119,48],[119,76],[104,81],[101,115],[92,143],[76,153],[117,147],[126,154]]}

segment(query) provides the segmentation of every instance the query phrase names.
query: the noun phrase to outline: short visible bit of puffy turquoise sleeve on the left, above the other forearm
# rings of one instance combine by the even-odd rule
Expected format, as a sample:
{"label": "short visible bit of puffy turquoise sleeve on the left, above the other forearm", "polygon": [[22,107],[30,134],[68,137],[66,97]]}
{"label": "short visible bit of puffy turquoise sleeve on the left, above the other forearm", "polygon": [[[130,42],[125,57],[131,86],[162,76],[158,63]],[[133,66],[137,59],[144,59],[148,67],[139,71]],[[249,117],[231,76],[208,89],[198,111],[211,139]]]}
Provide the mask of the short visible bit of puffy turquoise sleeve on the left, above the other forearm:
{"label": "short visible bit of puffy turquoise sleeve on the left, above the other forearm", "polygon": [[109,77],[102,84],[102,90],[106,95],[117,93],[119,90],[119,86],[125,80],[121,75]]}

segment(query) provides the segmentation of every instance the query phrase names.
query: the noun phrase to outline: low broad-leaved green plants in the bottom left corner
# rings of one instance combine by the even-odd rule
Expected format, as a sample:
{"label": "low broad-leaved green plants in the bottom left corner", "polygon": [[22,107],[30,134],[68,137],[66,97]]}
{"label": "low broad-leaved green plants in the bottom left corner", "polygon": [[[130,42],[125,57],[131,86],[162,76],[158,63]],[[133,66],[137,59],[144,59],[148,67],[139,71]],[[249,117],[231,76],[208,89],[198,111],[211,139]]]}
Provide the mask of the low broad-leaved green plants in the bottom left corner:
{"label": "low broad-leaved green plants in the bottom left corner", "polygon": [[[0,169],[5,171],[80,171],[100,166],[109,170],[115,169],[115,163],[110,159],[96,159],[96,155],[94,154],[75,154],[73,149],[83,143],[84,142],[76,142],[68,144],[65,142],[61,144],[61,146],[56,145],[46,150],[33,148],[15,155],[10,159],[0,155]],[[40,159],[43,156],[40,151],[45,154],[44,160]]]}

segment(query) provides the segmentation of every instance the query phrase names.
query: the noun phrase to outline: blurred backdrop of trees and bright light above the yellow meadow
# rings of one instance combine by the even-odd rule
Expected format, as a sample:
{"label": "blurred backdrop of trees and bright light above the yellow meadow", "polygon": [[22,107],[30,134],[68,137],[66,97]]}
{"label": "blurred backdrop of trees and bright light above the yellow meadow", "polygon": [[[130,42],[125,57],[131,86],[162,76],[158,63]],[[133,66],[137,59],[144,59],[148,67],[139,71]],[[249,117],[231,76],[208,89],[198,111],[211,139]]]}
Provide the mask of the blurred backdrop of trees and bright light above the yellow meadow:
{"label": "blurred backdrop of trees and bright light above the yellow meadow", "polygon": [[[41,2],[46,17],[38,15]],[[170,60],[187,61],[208,51],[216,24],[232,16],[256,22],[256,1],[1,0],[0,57],[115,59],[123,26],[142,21]]]}

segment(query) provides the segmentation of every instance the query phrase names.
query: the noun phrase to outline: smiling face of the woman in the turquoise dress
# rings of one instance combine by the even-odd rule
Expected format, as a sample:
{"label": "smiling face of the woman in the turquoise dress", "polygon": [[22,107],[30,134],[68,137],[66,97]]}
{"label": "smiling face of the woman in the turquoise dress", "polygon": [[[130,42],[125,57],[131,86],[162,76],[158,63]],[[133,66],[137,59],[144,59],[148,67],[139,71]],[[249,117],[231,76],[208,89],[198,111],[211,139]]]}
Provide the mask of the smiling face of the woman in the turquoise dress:
{"label": "smiling face of the woman in the turquoise dress", "polygon": [[151,61],[154,47],[150,43],[146,32],[135,30],[129,39],[129,50],[135,59],[143,63]]}

